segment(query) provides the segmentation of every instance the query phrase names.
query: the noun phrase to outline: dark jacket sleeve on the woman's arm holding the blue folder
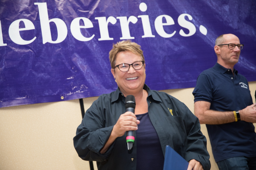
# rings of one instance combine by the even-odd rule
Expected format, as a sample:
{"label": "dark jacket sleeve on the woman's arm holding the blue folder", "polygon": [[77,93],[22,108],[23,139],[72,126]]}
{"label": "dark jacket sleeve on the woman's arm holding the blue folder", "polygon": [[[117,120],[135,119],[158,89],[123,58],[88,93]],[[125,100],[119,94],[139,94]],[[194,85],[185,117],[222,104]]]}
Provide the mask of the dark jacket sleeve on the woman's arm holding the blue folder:
{"label": "dark jacket sleeve on the woman's arm holding the blue folder", "polygon": [[204,170],[210,170],[210,155],[207,151],[207,141],[201,132],[198,118],[184,104],[183,121],[187,133],[187,149],[185,159],[187,161],[196,159],[201,163]]}

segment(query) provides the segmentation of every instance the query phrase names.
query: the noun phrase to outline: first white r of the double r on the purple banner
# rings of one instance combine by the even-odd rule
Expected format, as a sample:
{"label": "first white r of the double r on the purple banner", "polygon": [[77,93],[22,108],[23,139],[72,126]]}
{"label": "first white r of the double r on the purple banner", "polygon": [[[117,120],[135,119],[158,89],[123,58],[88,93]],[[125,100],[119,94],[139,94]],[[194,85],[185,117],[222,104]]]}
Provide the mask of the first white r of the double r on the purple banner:
{"label": "first white r of the double r on the purple banner", "polygon": [[109,28],[108,24],[109,22],[112,24],[116,23],[116,19],[112,16],[108,17],[106,20],[106,17],[95,17],[95,19],[98,19],[99,22],[99,28],[100,28],[100,38],[99,41],[102,40],[113,40],[114,38],[109,37]]}

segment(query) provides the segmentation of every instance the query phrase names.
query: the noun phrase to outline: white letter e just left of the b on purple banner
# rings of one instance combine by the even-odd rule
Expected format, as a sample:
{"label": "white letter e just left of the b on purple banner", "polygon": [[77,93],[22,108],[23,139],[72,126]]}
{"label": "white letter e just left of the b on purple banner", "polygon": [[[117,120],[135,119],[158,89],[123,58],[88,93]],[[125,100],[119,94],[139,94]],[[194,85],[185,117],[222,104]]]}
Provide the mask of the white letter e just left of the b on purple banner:
{"label": "white letter e just left of the b on purple banner", "polygon": [[[24,22],[25,28],[19,28],[20,21]],[[34,30],[34,29],[35,29],[35,26],[30,20],[18,19],[11,23],[11,25],[9,27],[9,36],[14,43],[19,44],[19,45],[27,45],[27,44],[32,43],[35,40],[35,38],[37,38],[37,37],[34,37],[33,39],[27,41],[27,40],[22,39],[19,32],[25,31],[25,30]]]}

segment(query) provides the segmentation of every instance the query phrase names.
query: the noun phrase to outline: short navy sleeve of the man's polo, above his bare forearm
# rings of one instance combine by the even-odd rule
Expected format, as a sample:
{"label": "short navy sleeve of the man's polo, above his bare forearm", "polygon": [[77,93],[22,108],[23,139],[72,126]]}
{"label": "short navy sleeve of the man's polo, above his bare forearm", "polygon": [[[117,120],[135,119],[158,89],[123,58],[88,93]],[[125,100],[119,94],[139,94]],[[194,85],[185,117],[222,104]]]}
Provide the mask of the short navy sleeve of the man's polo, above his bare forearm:
{"label": "short navy sleeve of the man's polo, above his bare forearm", "polygon": [[197,84],[193,91],[196,101],[212,102],[213,99],[213,84],[205,74],[200,74],[197,78]]}

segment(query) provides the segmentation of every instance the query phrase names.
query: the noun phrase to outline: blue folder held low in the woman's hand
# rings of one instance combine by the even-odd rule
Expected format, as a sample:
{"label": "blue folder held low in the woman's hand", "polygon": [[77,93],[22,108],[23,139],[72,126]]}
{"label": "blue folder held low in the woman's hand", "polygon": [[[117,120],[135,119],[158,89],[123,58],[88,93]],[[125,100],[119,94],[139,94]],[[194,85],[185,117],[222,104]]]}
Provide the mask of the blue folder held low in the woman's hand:
{"label": "blue folder held low in the woman's hand", "polygon": [[163,170],[187,170],[188,162],[170,146],[166,146]]}

